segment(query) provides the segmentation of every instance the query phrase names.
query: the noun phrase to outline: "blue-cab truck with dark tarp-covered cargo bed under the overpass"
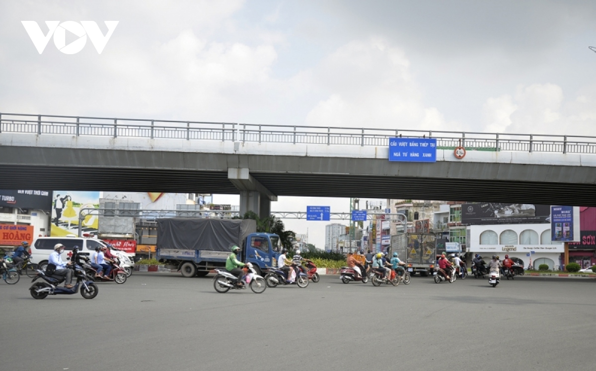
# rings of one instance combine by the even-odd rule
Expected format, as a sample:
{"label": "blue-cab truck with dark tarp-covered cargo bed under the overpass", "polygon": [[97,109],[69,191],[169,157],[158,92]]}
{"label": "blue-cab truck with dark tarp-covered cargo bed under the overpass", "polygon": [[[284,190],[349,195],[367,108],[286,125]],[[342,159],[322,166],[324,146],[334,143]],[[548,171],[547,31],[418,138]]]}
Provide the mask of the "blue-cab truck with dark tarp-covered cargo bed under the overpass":
{"label": "blue-cab truck with dark tarp-covered cargo bed under the overpass", "polygon": [[277,234],[257,233],[252,219],[163,218],[157,220],[157,256],[176,265],[185,277],[206,276],[224,268],[231,245],[241,251],[238,260],[251,262],[257,274],[275,267],[280,255]]}

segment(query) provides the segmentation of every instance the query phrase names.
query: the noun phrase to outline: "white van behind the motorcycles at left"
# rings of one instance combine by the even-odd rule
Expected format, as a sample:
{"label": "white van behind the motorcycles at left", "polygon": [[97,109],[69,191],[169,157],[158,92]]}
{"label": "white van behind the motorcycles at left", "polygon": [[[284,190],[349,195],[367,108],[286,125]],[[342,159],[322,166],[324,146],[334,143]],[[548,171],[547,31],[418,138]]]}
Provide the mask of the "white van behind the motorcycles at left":
{"label": "white van behind the motorcycles at left", "polygon": [[[45,270],[45,267],[48,265],[49,254],[54,251],[54,246],[57,243],[64,245],[64,252],[61,256],[65,262],[72,255],[72,250],[75,246],[79,246],[81,255],[89,256],[95,252],[95,248],[105,246],[105,243],[101,240],[85,237],[39,237],[31,245],[31,262],[37,264],[39,269]],[[131,267],[134,265],[128,253],[116,250],[112,250],[111,252],[118,256],[123,264],[128,264]]]}

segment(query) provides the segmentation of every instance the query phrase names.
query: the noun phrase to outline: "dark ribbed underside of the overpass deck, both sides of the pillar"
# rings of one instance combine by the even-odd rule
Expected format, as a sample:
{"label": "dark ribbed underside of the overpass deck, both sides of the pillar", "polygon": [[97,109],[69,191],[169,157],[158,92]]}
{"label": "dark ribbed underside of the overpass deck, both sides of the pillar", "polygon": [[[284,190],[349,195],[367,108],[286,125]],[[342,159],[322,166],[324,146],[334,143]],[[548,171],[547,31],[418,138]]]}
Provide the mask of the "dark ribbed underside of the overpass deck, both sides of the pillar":
{"label": "dark ribbed underside of the overpass deck, both sides of the pillar", "polygon": [[[227,171],[0,165],[0,188],[237,194]],[[251,172],[278,196],[519,202],[596,206],[596,186],[348,174]]]}

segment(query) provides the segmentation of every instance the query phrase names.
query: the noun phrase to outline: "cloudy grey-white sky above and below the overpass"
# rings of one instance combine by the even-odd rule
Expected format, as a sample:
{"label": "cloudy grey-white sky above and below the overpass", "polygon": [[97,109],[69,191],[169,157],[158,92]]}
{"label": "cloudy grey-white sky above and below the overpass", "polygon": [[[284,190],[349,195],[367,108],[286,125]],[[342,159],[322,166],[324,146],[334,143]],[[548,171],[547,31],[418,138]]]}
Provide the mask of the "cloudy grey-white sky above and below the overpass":
{"label": "cloudy grey-white sky above and below the overpass", "polygon": [[[596,135],[594,19],[593,1],[0,0],[0,112]],[[21,21],[48,20],[119,23],[101,54],[39,54]],[[272,209],[313,202],[349,208]]]}

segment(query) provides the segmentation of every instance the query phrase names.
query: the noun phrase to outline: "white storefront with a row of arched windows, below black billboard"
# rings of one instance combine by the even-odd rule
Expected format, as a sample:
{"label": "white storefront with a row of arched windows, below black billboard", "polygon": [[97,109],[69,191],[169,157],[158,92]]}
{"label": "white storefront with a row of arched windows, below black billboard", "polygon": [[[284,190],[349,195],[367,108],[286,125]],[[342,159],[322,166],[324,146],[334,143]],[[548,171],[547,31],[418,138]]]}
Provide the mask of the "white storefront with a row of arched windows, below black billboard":
{"label": "white storefront with a row of arched windows, below black billboard", "polygon": [[493,255],[503,259],[507,254],[521,259],[526,269],[547,264],[550,270],[560,270],[563,265],[565,247],[551,242],[550,224],[470,225],[467,230],[468,251],[479,253],[485,260]]}

